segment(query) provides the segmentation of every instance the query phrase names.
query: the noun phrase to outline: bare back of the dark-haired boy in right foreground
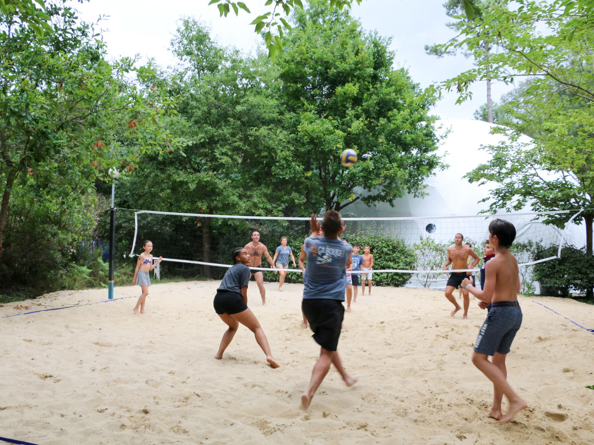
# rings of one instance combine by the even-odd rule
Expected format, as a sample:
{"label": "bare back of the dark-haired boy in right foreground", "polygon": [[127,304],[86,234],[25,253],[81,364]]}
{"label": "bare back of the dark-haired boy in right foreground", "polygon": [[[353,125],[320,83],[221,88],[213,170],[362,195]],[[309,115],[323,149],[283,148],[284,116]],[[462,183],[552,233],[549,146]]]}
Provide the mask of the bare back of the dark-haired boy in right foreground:
{"label": "bare back of the dark-haired boy in right foreground", "polygon": [[518,299],[520,271],[516,258],[507,249],[495,253],[495,258],[486,263],[485,274],[485,284],[488,285],[491,282],[495,286],[491,299],[492,303]]}

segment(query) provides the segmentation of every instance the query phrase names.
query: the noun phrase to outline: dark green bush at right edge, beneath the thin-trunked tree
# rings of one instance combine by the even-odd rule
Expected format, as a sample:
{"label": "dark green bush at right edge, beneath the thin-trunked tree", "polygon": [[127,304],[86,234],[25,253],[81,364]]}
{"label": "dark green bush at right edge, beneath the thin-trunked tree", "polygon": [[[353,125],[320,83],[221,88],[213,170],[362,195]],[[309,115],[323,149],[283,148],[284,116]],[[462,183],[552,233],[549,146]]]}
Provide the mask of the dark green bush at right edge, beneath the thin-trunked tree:
{"label": "dark green bush at right edge, beneath the thin-trunked tree", "polygon": [[[558,246],[536,249],[535,259],[557,255]],[[561,258],[538,263],[532,276],[541,284],[541,294],[571,297],[571,291],[586,294],[594,287],[594,256],[586,249],[564,246]]]}

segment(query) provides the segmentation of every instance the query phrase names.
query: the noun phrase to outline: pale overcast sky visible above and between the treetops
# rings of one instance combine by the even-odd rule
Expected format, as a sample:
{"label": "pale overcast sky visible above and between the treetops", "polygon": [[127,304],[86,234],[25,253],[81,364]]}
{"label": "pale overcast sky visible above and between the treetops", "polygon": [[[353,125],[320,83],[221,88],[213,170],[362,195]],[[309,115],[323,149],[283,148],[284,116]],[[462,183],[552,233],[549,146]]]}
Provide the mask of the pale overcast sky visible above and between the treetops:
{"label": "pale overcast sky visible above and between the treetops", "polygon": [[[453,37],[445,27],[450,20],[444,13],[444,0],[364,0],[356,2],[352,15],[358,17],[366,30],[377,30],[382,36],[392,37],[391,49],[396,52],[394,63],[409,69],[413,81],[422,87],[453,77],[472,66],[472,61],[462,55],[437,58],[425,54],[424,46],[443,43]],[[264,0],[244,0],[252,14],[239,11],[228,17],[219,17],[216,5],[208,0],[90,0],[76,4],[80,18],[100,21],[100,28],[108,46],[109,56],[140,55],[154,58],[159,65],[175,65],[176,59],[169,51],[169,42],[176,24],[183,15],[194,16],[210,23],[214,36],[223,45],[252,52],[261,46],[260,38],[249,23],[256,15],[268,11]],[[504,84],[493,84],[492,96],[498,100],[510,90]],[[437,103],[432,113],[446,118],[472,119],[474,111],[486,101],[485,82],[472,88],[472,101],[456,105],[456,94],[450,93]]]}

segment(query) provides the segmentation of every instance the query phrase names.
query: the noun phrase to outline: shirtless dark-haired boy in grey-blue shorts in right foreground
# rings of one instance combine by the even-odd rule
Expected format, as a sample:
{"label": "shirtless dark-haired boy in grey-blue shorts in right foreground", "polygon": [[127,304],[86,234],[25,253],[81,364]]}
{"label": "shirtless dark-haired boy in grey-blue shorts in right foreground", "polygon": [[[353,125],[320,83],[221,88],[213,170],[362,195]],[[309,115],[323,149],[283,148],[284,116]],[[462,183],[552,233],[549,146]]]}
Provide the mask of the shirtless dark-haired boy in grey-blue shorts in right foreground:
{"label": "shirtless dark-haired boy in grey-blue shorts in right foreground", "polygon": [[[495,256],[485,265],[485,287],[478,290],[468,278],[462,282],[467,291],[481,300],[481,306],[491,303],[491,310],[476,338],[472,363],[493,382],[493,405],[487,417],[501,424],[511,421],[514,415],[526,408],[526,402],[507,383],[505,368],[505,357],[522,325],[522,309],[517,301],[519,269],[516,258],[508,250],[515,238],[516,228],[511,222],[491,221],[489,244],[495,249]],[[493,357],[492,361],[488,360],[489,355]],[[501,412],[503,395],[510,403],[505,415]]]}

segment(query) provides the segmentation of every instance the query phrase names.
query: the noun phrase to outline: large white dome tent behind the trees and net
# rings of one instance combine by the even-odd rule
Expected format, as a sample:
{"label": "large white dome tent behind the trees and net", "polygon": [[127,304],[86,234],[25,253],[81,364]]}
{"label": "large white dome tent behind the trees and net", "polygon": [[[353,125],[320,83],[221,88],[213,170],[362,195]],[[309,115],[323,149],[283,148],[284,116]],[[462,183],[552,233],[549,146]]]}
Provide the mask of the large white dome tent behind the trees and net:
{"label": "large white dome tent behind the trees and net", "polygon": [[[491,155],[486,150],[480,150],[481,145],[495,145],[506,138],[505,135],[491,134],[491,128],[495,125],[481,120],[466,119],[443,119],[436,123],[437,133],[442,139],[438,154],[447,164],[444,170],[436,171],[434,176],[426,180],[424,198],[415,198],[412,195],[405,195],[397,198],[393,206],[389,204],[378,204],[368,207],[361,202],[349,205],[343,215],[345,217],[368,217],[368,218],[421,218],[410,220],[398,220],[391,227],[396,227],[394,233],[403,237],[407,243],[415,243],[419,237],[430,236],[439,243],[451,241],[457,232],[473,234],[475,242],[483,241],[488,236],[486,230],[478,231],[479,218],[464,218],[479,215],[479,212],[488,208],[489,201],[480,202],[488,198],[490,191],[498,185],[496,183],[470,184],[463,176],[479,164],[489,160]],[[525,141],[530,139],[526,137]],[[359,190],[360,192],[361,190]],[[530,212],[526,208],[523,212]],[[503,213],[503,211],[502,211]],[[480,215],[479,215],[480,216]],[[433,217],[433,218],[431,218]],[[533,239],[534,228],[539,226],[539,235],[546,232],[549,239],[560,239],[561,230],[549,225],[543,227],[539,222],[530,221],[524,218],[522,221],[513,221],[517,230],[517,241]],[[482,224],[481,224],[482,227]],[[577,247],[585,245],[585,230],[583,226],[571,224],[565,231],[565,241]],[[482,256],[482,252],[477,252]],[[418,277],[413,276],[407,286],[420,287],[422,284]],[[432,288],[444,288],[447,275],[443,279],[432,282]]]}

